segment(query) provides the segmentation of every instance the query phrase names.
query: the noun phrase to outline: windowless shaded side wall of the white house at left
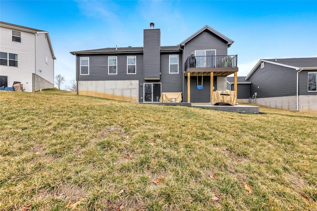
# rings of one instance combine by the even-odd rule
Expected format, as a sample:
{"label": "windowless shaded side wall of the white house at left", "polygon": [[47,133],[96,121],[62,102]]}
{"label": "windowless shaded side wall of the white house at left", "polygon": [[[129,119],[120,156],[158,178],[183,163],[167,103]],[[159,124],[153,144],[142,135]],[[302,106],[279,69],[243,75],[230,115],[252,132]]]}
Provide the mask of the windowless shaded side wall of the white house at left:
{"label": "windowless shaded side wall of the white house at left", "polygon": [[[54,59],[51,53],[50,45],[46,34],[40,33],[36,36],[36,59],[35,68],[36,74],[50,83],[54,84]],[[48,64],[46,63],[46,56],[48,57]],[[42,72],[40,72],[42,70]],[[36,90],[44,89],[43,87],[38,87]],[[45,87],[47,88],[47,87]],[[51,88],[51,87],[50,87]]]}

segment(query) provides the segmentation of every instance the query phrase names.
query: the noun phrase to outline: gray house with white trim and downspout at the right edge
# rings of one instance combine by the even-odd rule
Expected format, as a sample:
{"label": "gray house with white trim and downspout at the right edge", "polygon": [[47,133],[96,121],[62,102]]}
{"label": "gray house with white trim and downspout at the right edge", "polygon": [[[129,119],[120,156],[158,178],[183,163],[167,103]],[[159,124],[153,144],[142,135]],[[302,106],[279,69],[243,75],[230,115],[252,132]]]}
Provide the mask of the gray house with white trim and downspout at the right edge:
{"label": "gray house with white trim and downspout at the right edge", "polygon": [[257,104],[317,113],[317,57],[261,59],[245,80]]}

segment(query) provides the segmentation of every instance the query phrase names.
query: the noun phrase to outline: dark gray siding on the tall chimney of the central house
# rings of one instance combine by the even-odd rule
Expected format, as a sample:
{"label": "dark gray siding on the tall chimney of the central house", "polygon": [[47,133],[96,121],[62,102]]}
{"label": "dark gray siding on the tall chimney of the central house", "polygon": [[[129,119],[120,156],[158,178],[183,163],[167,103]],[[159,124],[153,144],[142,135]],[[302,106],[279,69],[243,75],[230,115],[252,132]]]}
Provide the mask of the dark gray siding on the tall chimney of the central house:
{"label": "dark gray siding on the tall chimney of the central house", "polygon": [[145,29],[143,37],[144,78],[160,78],[160,30]]}

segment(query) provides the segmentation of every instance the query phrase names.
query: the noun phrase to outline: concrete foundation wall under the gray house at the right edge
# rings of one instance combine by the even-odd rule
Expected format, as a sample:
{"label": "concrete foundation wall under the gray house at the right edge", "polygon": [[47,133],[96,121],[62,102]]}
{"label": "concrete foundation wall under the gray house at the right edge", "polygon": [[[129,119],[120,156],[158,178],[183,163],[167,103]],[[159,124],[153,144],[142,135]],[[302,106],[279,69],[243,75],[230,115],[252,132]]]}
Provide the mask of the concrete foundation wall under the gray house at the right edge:
{"label": "concrete foundation wall under the gray house at the right edge", "polygon": [[[275,97],[275,98],[257,98],[251,99],[251,103],[262,106],[296,110],[296,96]],[[317,95],[299,96],[299,111],[308,113],[317,113]]]}

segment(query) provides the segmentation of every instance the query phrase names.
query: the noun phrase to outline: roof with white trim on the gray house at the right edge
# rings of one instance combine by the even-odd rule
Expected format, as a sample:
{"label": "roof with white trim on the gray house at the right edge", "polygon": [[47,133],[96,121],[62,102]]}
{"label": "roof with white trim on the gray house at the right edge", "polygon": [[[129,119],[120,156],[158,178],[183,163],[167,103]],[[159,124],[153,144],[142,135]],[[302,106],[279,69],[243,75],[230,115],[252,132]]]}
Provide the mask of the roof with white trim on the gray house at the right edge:
{"label": "roof with white trim on the gray house at the right edge", "polygon": [[308,58],[272,58],[272,59],[260,59],[256,66],[247,75],[245,80],[248,80],[250,76],[258,69],[262,62],[267,62],[279,66],[289,67],[295,70],[317,70],[317,57]]}

